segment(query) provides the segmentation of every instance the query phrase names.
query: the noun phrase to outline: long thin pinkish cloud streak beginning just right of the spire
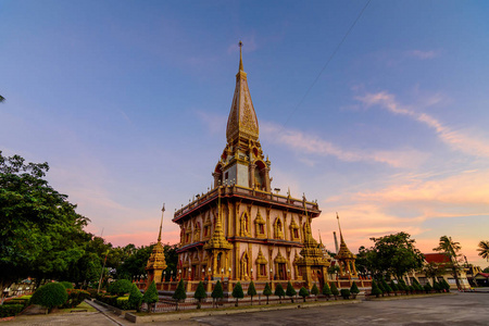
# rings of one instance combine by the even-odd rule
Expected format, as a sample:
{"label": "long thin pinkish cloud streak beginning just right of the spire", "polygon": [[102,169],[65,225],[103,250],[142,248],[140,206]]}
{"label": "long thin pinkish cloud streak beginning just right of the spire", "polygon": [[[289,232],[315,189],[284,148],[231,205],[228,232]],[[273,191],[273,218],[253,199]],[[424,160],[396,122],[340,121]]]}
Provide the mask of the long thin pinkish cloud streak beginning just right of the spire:
{"label": "long thin pinkish cloud streak beginning just right of the spire", "polygon": [[[294,151],[308,154],[316,154],[322,156],[335,156],[344,162],[377,162],[391,165],[393,167],[413,167],[421,164],[425,154],[415,150],[399,151],[363,151],[363,150],[344,150],[330,141],[324,140],[317,136],[306,133],[284,129],[276,124],[262,123],[262,135],[267,137],[269,142],[275,142],[289,147]],[[311,164],[312,161],[309,161]]]}

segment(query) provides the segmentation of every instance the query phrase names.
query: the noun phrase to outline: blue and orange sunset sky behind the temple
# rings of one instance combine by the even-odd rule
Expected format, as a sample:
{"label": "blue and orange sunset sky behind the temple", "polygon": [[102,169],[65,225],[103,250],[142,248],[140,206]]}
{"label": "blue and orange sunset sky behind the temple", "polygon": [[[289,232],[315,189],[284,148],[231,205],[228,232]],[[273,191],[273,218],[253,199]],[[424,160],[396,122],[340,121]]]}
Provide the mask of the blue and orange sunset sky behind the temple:
{"label": "blue and orange sunset sky behind the temple", "polygon": [[313,84],[366,3],[0,0],[0,149],[49,162],[115,244],[154,241],[165,202],[173,243],[224,149],[242,40],[272,186],[318,200],[329,249],[338,212],[352,251],[448,235],[486,266],[489,3],[372,0]]}

